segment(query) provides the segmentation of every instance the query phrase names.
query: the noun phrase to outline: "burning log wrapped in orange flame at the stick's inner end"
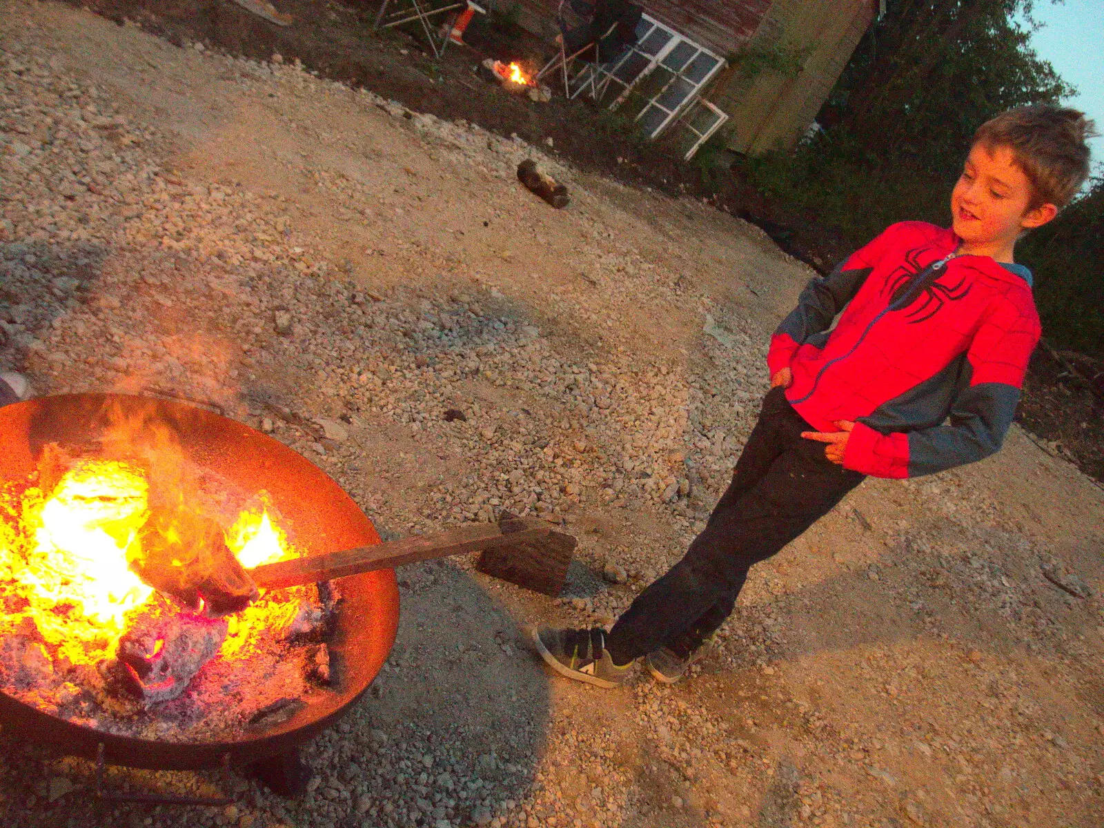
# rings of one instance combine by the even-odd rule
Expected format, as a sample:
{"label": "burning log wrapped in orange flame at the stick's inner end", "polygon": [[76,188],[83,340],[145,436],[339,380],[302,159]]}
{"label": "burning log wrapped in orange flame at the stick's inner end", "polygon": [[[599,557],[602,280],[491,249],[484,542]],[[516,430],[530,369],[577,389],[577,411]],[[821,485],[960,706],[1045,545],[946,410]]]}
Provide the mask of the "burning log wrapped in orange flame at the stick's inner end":
{"label": "burning log wrapped in orange flame at the stick's inner end", "polygon": [[245,569],[226,546],[222,528],[184,509],[155,509],[141,530],[138,576],[188,609],[236,613],[256,601]]}

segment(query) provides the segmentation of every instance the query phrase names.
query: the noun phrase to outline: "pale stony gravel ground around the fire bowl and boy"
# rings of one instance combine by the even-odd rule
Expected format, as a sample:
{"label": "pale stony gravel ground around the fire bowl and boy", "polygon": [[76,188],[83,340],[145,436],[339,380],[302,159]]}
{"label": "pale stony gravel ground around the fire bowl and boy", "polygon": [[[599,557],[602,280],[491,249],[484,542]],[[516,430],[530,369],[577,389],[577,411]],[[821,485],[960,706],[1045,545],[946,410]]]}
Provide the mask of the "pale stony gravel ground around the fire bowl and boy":
{"label": "pale stony gravel ground around the fire bowl and boy", "polygon": [[[1104,497],[1018,429],[975,467],[863,484],[755,567],[693,681],[544,673],[521,624],[607,622],[700,528],[810,275],[548,150],[0,0],[0,367],[214,401],[384,533],[543,514],[608,576],[550,601],[466,560],[402,570],[389,665],[306,750],[300,800],[117,769],[235,804],[93,808],[89,763],[8,739],[3,824],[1097,825]],[[567,210],[518,184],[530,157]]]}

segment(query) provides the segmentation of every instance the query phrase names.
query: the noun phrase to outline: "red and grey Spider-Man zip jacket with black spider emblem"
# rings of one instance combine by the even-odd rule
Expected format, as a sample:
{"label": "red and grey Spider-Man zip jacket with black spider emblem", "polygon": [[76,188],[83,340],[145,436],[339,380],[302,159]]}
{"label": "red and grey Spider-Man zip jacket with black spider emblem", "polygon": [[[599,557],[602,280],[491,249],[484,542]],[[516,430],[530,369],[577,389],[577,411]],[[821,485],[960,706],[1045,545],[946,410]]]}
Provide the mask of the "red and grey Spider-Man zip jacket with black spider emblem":
{"label": "red and grey Spider-Man zip jacket with black spider emblem", "polygon": [[1041,332],[1031,273],[948,259],[958,243],[932,224],[892,225],[810,282],[771,339],[771,375],[793,371],[798,414],[826,432],[854,421],[846,468],[916,477],[1000,448]]}

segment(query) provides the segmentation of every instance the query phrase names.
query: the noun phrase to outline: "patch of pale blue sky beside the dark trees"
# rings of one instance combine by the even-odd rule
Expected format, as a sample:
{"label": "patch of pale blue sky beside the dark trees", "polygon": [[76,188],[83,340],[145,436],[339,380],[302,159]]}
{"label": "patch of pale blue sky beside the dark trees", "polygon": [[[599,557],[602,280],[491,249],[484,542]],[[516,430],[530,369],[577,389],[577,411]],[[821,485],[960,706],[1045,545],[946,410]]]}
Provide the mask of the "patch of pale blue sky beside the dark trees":
{"label": "patch of pale blue sky beside the dark trees", "polygon": [[[1036,52],[1078,87],[1066,103],[1095,119],[1096,130],[1104,132],[1104,0],[1036,0],[1033,15],[1047,24],[1031,35]],[[1096,138],[1092,149],[1095,172],[1104,174],[1104,138]]]}

